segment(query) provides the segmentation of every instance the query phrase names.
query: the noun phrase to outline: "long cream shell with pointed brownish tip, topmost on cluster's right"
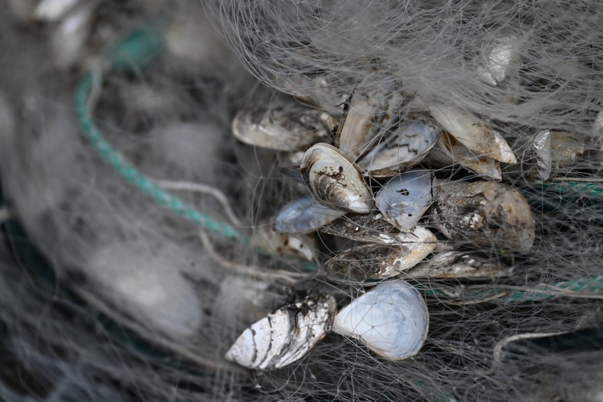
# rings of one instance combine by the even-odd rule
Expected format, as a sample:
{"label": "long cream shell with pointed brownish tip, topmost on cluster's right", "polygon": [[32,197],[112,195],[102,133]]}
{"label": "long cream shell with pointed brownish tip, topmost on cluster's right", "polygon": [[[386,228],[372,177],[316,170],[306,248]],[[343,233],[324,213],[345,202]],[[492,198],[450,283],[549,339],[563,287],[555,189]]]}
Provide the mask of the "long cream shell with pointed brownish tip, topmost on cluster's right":
{"label": "long cream shell with pointed brownish tip, topmost on cluster's right", "polygon": [[443,104],[428,103],[426,106],[429,113],[450,135],[478,156],[511,164],[517,162],[515,154],[502,135],[484,124],[476,115]]}

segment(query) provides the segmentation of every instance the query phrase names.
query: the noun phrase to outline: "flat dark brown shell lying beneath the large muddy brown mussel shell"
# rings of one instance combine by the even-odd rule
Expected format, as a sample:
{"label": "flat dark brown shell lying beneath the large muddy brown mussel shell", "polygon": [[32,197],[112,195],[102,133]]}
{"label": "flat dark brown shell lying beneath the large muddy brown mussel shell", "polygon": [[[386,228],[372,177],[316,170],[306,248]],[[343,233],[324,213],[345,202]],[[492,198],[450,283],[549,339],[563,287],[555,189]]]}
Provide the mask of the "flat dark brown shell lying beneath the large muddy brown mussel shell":
{"label": "flat dark brown shell lying beneath the large muddy brown mussel shell", "polygon": [[497,261],[459,251],[443,251],[403,272],[405,278],[494,279],[509,276],[512,269]]}

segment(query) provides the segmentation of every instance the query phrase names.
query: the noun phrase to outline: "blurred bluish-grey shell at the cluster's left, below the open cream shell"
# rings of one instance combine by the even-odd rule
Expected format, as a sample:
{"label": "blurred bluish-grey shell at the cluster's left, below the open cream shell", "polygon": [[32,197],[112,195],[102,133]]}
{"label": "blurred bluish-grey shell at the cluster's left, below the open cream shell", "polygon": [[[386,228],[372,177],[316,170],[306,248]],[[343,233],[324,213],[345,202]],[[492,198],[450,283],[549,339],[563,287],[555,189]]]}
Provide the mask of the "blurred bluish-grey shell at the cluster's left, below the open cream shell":
{"label": "blurred bluish-grey shell at the cluster's left, below the open cream shell", "polygon": [[325,207],[312,197],[286,204],[274,218],[277,233],[309,233],[343,216],[343,211]]}

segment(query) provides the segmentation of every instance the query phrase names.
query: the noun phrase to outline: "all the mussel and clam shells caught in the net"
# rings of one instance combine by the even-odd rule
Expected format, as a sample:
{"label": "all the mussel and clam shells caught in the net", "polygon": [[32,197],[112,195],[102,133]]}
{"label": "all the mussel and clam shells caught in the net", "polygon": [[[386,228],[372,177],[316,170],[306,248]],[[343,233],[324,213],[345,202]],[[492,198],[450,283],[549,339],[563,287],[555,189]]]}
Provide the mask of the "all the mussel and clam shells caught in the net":
{"label": "all the mussel and clam shells caught in the net", "polygon": [[[516,57],[510,43],[486,57],[477,72],[486,82],[505,79]],[[405,95],[399,80],[380,73],[356,87],[339,116],[298,101],[242,110],[233,120],[233,133],[299,165],[309,195],[278,211],[274,231],[295,238],[298,251],[305,233],[315,231],[362,243],[324,262],[330,279],[496,278],[510,268],[454,250],[446,239],[454,240],[452,245],[519,253],[533,246],[535,223],[528,203],[498,182],[500,164],[515,164],[516,157],[501,133],[479,116]],[[401,107],[409,102],[412,112],[402,117]],[[539,137],[534,146],[541,171],[548,162],[545,141]],[[488,180],[448,182],[430,170],[413,169],[425,159],[430,166],[459,164]],[[437,228],[444,239],[427,227]],[[312,243],[305,244],[306,251],[312,249]],[[400,360],[421,349],[428,331],[423,298],[400,278],[376,285],[337,314],[329,296],[308,297],[249,327],[227,358],[253,369],[283,367],[332,329]]]}

